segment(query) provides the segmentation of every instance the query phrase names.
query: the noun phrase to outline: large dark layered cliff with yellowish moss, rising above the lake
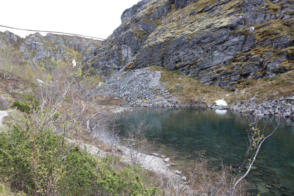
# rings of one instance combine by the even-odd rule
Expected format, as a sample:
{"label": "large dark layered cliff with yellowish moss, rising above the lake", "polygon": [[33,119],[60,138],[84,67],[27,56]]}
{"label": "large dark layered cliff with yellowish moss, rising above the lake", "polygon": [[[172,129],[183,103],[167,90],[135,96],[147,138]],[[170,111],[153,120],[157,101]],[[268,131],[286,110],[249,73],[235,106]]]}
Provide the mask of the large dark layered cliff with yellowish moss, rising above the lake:
{"label": "large dark layered cliff with yellowish moss, rising above the lake", "polygon": [[162,66],[234,90],[293,66],[293,0],[143,0],[121,20],[87,68]]}

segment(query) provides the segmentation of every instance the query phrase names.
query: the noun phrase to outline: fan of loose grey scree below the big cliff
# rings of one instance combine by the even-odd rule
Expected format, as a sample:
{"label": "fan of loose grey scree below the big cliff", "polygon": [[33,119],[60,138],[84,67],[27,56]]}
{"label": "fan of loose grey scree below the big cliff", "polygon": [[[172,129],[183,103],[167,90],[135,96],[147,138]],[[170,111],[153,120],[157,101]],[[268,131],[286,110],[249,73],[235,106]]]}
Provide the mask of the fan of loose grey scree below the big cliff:
{"label": "fan of loose grey scree below the big cliff", "polygon": [[170,95],[160,83],[161,71],[149,68],[118,72],[108,81],[98,86],[94,95],[116,95],[114,99],[123,99],[130,106],[144,107],[183,107],[178,98]]}

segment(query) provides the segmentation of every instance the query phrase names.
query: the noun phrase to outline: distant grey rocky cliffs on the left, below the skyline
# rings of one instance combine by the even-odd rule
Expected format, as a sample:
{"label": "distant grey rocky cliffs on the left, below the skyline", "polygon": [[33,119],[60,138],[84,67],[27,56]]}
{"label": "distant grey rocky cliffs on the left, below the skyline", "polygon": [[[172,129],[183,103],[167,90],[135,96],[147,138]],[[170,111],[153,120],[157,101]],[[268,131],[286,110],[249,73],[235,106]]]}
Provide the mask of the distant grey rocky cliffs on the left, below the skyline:
{"label": "distant grey rocky cliffs on the left, below the skyline", "polygon": [[101,43],[102,41],[99,40],[79,36],[51,33],[42,36],[40,33],[34,33],[26,38],[21,38],[9,31],[0,32],[0,45],[12,44],[19,47],[32,66],[43,62],[49,68],[55,66],[56,62],[62,58],[61,55],[66,48],[75,48],[82,54],[82,58],[86,58],[86,56],[93,55],[91,53],[94,52],[94,48],[100,46]]}

